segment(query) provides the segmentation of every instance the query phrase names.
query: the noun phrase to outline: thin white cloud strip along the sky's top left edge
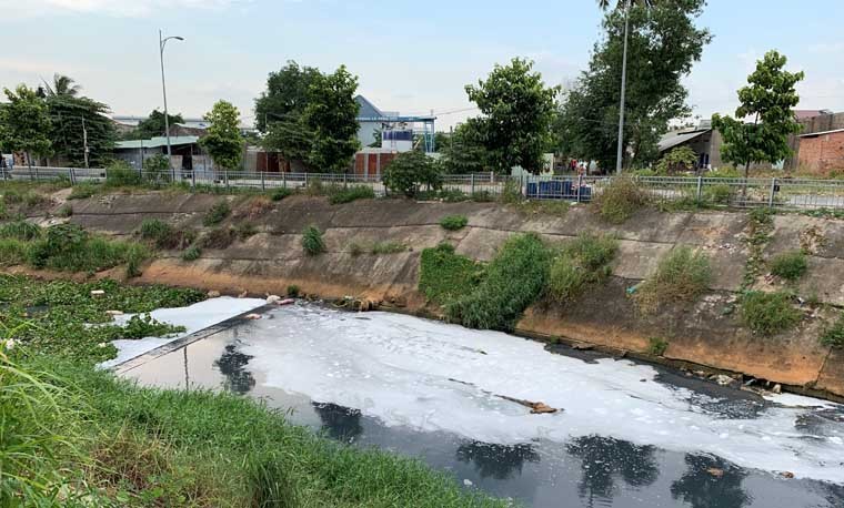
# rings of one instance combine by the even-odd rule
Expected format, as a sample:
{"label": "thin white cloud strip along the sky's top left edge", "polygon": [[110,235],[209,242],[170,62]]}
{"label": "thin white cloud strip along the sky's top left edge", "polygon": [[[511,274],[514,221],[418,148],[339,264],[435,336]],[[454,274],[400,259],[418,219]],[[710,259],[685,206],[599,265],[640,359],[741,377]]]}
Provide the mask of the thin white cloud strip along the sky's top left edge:
{"label": "thin white cloud strip along the sky's top left edge", "polygon": [[139,18],[161,10],[224,9],[244,0],[0,0],[4,19],[62,14],[102,14]]}

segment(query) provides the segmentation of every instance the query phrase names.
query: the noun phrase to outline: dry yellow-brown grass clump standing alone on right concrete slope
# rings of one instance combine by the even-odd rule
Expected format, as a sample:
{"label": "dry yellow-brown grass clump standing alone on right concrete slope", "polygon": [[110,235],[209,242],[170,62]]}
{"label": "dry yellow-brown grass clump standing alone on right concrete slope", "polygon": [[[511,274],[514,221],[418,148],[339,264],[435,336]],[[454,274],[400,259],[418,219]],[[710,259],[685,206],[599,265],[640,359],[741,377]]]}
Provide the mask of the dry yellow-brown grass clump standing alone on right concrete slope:
{"label": "dry yellow-brown grass clump standing alone on right concrete slope", "polygon": [[709,256],[689,246],[677,246],[660,261],[656,272],[639,286],[633,299],[640,311],[651,314],[664,304],[694,302],[711,281]]}

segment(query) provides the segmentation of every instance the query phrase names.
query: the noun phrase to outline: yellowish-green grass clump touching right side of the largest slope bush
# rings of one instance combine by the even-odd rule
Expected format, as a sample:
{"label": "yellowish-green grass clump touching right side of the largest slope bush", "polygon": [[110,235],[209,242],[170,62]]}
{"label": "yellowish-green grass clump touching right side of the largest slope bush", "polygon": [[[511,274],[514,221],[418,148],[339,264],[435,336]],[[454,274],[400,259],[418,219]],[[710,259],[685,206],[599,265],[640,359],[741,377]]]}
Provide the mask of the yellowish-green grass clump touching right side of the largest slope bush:
{"label": "yellowish-green grass clump touching right side of the largest slope bush", "polygon": [[551,263],[549,295],[557,302],[571,302],[591,284],[611,274],[610,263],[619,251],[614,236],[582,233],[565,245]]}

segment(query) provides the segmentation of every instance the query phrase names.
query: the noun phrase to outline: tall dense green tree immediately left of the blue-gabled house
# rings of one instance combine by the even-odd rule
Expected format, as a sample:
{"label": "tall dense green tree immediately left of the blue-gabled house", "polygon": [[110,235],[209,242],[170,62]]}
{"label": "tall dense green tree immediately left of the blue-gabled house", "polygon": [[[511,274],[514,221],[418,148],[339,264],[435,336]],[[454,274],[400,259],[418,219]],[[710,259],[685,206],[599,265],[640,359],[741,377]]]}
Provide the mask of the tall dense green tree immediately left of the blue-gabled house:
{"label": "tall dense green tree immediately left of the blue-gabled house", "polygon": [[356,90],[358,78],[345,65],[311,84],[302,123],[312,133],[308,162],[319,171],[344,171],[360,149]]}

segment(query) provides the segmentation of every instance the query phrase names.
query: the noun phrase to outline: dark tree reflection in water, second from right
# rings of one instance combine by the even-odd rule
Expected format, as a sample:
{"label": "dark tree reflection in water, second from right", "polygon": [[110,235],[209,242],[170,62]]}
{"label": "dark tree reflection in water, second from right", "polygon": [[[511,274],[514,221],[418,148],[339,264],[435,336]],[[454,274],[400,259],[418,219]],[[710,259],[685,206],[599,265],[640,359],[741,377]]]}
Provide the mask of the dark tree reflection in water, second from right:
{"label": "dark tree reflection in water, second from right", "polygon": [[660,476],[654,458],[656,448],[636,446],[630,441],[601,436],[579,437],[566,445],[566,450],[581,459],[583,478],[577,491],[593,506],[597,499],[611,499],[615,494],[615,479],[627,485],[645,487]]}

